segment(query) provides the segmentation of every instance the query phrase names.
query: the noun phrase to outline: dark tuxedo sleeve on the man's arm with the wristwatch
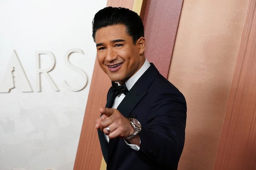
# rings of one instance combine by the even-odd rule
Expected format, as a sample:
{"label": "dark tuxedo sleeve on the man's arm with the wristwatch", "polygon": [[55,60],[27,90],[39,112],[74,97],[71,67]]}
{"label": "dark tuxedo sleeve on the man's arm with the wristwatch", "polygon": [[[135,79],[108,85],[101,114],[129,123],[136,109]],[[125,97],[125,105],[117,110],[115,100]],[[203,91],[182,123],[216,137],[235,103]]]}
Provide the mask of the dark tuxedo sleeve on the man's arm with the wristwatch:
{"label": "dark tuxedo sleeve on the man's arm with the wristwatch", "polygon": [[163,169],[177,169],[183,150],[186,126],[186,101],[179,91],[157,94],[145,110],[137,155]]}

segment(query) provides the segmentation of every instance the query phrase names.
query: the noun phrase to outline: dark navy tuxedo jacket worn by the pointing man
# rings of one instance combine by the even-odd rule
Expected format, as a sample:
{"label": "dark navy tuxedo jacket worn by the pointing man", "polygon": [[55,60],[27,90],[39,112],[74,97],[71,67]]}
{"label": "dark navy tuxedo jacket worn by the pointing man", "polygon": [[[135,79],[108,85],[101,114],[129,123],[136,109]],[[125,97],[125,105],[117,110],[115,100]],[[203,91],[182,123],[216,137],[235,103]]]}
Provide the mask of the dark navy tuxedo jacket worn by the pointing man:
{"label": "dark navy tuxedo jacket worn by the pointing man", "polygon": [[[113,99],[110,88],[107,108],[112,107]],[[176,170],[185,139],[186,101],[152,63],[117,110],[140,121],[141,144],[138,151],[125,144],[124,139],[111,139],[108,144],[104,133],[98,130],[107,170]]]}

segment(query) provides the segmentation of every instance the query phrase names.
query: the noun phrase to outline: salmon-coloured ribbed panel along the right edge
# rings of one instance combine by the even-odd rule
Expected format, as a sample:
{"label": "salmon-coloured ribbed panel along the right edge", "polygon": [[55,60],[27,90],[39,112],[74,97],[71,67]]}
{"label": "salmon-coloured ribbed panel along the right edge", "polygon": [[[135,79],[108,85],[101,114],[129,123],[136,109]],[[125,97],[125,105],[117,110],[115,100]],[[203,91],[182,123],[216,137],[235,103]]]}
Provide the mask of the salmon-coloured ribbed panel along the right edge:
{"label": "salmon-coloured ribbed panel along the right edge", "polygon": [[250,0],[215,170],[256,170],[255,9]]}

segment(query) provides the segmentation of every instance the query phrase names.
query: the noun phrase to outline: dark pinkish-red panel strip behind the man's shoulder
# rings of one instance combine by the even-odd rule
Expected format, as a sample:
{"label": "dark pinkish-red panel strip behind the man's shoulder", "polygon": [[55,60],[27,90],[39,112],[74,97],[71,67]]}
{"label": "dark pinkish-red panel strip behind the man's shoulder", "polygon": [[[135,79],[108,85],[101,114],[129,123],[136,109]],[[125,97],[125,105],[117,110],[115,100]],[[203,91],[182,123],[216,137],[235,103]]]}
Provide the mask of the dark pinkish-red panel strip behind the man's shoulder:
{"label": "dark pinkish-red panel strip behind the man's shoulder", "polygon": [[183,0],[146,0],[145,57],[168,77]]}

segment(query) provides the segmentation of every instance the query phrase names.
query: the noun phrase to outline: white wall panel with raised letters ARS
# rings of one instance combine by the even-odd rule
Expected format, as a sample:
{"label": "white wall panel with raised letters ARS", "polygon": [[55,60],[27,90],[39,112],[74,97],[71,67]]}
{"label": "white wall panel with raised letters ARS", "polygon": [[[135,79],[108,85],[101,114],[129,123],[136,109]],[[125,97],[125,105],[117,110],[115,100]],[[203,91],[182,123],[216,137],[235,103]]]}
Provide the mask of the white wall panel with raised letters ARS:
{"label": "white wall panel with raised letters ARS", "polygon": [[96,59],[91,23],[107,0],[88,3],[1,0],[0,170],[73,169]]}

